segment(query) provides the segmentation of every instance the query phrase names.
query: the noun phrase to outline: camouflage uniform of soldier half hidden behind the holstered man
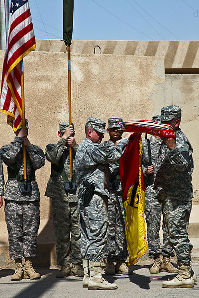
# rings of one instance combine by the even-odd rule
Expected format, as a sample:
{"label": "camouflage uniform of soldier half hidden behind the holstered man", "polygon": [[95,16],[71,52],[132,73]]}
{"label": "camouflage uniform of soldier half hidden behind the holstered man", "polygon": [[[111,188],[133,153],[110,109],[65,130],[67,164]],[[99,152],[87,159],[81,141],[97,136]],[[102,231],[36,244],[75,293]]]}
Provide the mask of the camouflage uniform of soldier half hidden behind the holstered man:
{"label": "camouflage uniform of soldier half hidden behind the holstered man", "polygon": [[[104,142],[103,145],[111,148],[115,144],[109,140]],[[128,257],[128,250],[122,204],[123,194],[119,177],[119,161],[108,163],[107,166],[109,180],[108,235],[103,250],[103,257],[105,260],[121,261],[126,260]],[[118,184],[117,187],[114,181]]]}

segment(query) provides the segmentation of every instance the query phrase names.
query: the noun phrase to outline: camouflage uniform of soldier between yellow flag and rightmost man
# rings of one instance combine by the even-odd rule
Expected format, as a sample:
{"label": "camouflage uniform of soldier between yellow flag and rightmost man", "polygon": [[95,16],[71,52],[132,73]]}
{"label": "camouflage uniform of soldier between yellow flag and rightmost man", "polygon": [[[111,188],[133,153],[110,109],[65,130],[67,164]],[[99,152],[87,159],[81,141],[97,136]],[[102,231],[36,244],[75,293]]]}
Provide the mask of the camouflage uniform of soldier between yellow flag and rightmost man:
{"label": "camouflage uniform of soldier between yellow flag and rightmost man", "polygon": [[151,147],[151,161],[154,166],[154,172],[149,175],[145,174],[149,166],[148,143],[147,140],[142,141],[142,170],[144,174],[145,185],[145,215],[147,223],[147,241],[149,247],[149,257],[152,258],[160,254],[162,254],[164,257],[169,257],[173,255],[173,248],[168,243],[164,224],[162,224],[162,247],[160,244],[159,231],[161,223],[162,204],[158,202],[158,191],[154,189],[154,181],[157,173],[157,161],[162,140],[157,139],[155,136],[151,136],[149,141]]}

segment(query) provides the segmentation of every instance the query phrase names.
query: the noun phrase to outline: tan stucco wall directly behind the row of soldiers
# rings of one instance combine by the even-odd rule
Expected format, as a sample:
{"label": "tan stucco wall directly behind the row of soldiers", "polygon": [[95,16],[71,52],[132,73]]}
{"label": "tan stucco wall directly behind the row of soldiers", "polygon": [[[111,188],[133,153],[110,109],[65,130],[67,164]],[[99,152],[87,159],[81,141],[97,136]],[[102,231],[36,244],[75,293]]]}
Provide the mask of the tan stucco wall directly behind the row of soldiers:
{"label": "tan stucco wall directly behind the row of soldiers", "polygon": [[[0,73],[3,57],[4,52],[0,51]],[[165,97],[163,57],[74,54],[71,57],[71,69],[72,121],[78,143],[84,138],[88,116],[105,121],[115,116],[125,120],[151,119],[152,115],[160,113],[162,106],[173,103]],[[67,54],[32,52],[24,59],[24,79],[29,140],[44,150],[48,143],[57,142],[58,124],[68,118]],[[181,102],[175,102],[178,103]],[[187,108],[186,102],[183,104]],[[196,117],[198,109],[197,106],[192,115],[186,113],[183,119],[188,137],[194,133],[190,131],[189,123],[193,115]],[[11,127],[6,125],[6,115],[2,113],[0,128],[2,146],[11,142],[14,136]],[[198,148],[195,151],[198,154]],[[54,264],[56,260],[55,236],[50,219],[51,204],[44,197],[49,175],[50,164],[47,161],[43,168],[36,171],[41,193],[38,235],[40,264]],[[2,208],[0,229],[0,265],[7,266],[7,231]]]}

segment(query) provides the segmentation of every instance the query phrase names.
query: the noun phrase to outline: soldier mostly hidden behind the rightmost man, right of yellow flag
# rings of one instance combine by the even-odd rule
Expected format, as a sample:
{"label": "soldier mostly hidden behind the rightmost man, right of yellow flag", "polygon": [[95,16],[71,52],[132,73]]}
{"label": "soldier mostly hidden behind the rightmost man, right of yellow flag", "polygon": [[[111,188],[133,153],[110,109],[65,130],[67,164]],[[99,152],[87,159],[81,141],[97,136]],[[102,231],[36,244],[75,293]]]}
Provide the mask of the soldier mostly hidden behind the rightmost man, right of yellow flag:
{"label": "soldier mostly hidden behind the rightmost man, right of yellow flag", "polygon": [[[161,116],[153,116],[155,122],[161,122]],[[149,142],[149,145],[148,145]],[[145,215],[147,224],[147,241],[149,247],[149,257],[154,259],[150,273],[159,273],[166,271],[177,273],[176,269],[170,263],[170,256],[173,255],[174,249],[168,243],[167,234],[163,229],[163,244],[160,244],[160,223],[162,214],[162,204],[158,202],[158,191],[154,190],[154,181],[157,173],[157,161],[162,140],[159,136],[151,136],[150,139],[142,141],[142,170],[144,175],[145,186]],[[149,151],[150,150],[150,151]],[[149,152],[151,152],[151,160],[149,160]],[[149,164],[150,161],[152,165]],[[163,263],[161,264],[160,255],[163,255]]]}

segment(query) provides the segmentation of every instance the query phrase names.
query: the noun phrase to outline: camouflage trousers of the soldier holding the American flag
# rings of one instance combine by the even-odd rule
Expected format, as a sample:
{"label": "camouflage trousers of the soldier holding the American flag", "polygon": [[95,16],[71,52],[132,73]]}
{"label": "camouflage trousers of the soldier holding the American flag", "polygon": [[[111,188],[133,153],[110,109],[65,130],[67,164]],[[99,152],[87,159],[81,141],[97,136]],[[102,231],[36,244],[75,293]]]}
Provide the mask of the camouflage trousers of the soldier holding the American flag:
{"label": "camouflage trousers of the soldier holding the American flag", "polygon": [[39,201],[5,200],[4,210],[10,258],[36,257],[36,239],[40,223]]}

